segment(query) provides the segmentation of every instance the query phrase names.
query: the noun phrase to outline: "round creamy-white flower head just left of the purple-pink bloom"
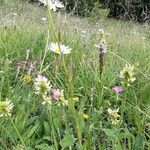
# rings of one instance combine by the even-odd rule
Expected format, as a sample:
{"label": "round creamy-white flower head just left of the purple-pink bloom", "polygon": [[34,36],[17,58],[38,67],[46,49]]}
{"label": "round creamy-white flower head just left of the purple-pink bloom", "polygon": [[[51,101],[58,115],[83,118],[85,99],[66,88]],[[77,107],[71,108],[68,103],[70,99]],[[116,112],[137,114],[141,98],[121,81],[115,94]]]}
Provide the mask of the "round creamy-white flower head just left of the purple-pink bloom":
{"label": "round creamy-white flower head just left of the purple-pink bloom", "polygon": [[50,81],[42,75],[38,75],[34,84],[38,95],[46,95],[51,89]]}

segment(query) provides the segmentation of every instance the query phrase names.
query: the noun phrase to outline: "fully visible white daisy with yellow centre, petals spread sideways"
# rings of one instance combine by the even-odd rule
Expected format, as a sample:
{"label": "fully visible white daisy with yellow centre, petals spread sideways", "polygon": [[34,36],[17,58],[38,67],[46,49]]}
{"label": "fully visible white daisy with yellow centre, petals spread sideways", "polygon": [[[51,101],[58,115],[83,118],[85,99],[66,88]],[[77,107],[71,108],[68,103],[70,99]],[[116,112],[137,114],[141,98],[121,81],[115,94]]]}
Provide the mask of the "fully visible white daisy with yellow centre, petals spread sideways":
{"label": "fully visible white daisy with yellow centre, petals spread sideways", "polygon": [[60,55],[60,54],[70,54],[72,49],[63,44],[59,45],[58,43],[50,43],[48,46],[48,50]]}

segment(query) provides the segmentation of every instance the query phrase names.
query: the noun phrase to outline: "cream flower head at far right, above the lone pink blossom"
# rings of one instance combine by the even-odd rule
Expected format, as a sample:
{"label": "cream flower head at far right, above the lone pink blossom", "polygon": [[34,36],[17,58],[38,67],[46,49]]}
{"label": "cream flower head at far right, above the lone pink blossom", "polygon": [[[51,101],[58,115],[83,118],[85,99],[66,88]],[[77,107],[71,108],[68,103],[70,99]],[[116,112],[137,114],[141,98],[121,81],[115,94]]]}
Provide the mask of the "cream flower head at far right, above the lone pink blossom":
{"label": "cream flower head at far right, above the lone pink blossom", "polygon": [[125,84],[130,86],[131,82],[134,82],[136,78],[134,77],[134,66],[126,64],[124,69],[120,72],[120,78],[123,78]]}

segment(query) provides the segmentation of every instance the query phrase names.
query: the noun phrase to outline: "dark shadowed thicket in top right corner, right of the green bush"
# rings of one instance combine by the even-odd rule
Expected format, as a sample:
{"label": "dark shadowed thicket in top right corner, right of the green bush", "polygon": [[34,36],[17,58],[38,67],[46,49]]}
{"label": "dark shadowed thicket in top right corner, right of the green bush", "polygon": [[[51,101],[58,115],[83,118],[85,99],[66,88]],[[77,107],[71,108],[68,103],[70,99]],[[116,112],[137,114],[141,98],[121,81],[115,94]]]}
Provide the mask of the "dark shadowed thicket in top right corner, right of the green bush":
{"label": "dark shadowed thicket in top right corner, right of the green bush", "polygon": [[150,21],[149,0],[110,0],[107,5],[110,8],[110,17],[139,22]]}

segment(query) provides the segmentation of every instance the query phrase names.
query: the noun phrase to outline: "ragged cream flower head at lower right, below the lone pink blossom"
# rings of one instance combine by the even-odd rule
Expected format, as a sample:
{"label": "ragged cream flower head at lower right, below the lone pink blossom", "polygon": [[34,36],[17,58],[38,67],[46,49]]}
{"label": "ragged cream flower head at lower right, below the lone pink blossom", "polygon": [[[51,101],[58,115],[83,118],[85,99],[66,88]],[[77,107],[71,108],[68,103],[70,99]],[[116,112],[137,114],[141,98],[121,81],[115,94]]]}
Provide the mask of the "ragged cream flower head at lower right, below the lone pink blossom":
{"label": "ragged cream flower head at lower right, below the lone pink blossom", "polygon": [[107,112],[110,116],[112,124],[116,125],[119,123],[119,117],[120,115],[118,114],[119,108],[118,109],[110,109],[108,108]]}

